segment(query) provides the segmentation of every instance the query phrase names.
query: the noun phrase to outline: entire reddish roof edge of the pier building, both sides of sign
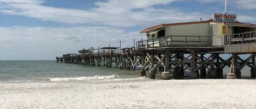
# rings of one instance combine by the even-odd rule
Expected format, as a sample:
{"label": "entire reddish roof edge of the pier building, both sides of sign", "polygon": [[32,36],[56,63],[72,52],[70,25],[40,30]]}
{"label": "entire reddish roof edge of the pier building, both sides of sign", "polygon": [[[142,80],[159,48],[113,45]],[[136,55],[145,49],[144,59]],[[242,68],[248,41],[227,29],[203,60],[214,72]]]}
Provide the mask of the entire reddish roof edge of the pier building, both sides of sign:
{"label": "entire reddish roof edge of the pier building, both sides of sign", "polygon": [[[164,28],[167,26],[174,26],[174,25],[187,25],[187,24],[200,24],[200,23],[210,23],[213,22],[213,20],[207,20],[207,21],[199,21],[199,22],[183,22],[183,23],[167,23],[167,24],[160,24],[160,25],[156,25],[154,27],[150,27],[150,28],[146,28],[144,30],[141,30],[140,33],[147,33],[148,31],[152,31],[155,29],[160,29],[160,28]],[[216,23],[220,23],[220,22],[216,22]],[[221,22],[223,23],[223,22]],[[256,24],[251,24],[251,23],[242,23],[242,22],[227,22],[226,24],[228,25],[240,25],[240,26],[248,26],[248,27],[255,27]]]}

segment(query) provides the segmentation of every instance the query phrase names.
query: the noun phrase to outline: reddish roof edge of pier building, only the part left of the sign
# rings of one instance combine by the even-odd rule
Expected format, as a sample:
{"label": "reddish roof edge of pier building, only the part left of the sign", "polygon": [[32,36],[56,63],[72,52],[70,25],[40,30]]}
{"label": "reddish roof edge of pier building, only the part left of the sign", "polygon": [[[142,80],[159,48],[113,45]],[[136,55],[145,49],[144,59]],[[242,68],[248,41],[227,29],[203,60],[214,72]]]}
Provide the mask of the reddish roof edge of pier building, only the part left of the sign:
{"label": "reddish roof edge of pier building, only the part left of the sign", "polygon": [[213,20],[207,20],[207,21],[199,21],[199,22],[183,22],[183,23],[167,23],[167,24],[160,24],[160,25],[156,25],[154,27],[150,27],[150,28],[146,28],[144,30],[141,30],[140,33],[147,33],[148,31],[154,30],[154,29],[159,29],[159,28],[163,28],[166,26],[173,26],[173,25],[187,25],[187,24],[200,24],[200,23],[210,23]]}

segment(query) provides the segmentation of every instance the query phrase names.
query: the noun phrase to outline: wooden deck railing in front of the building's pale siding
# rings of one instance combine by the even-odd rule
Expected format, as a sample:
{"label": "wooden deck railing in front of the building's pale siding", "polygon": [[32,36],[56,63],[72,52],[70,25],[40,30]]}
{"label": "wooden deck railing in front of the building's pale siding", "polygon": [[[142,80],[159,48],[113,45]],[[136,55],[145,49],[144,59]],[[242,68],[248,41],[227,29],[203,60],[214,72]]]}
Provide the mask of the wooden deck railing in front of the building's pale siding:
{"label": "wooden deck railing in front of the building's pale siding", "polygon": [[138,41],[138,49],[161,47],[205,47],[211,46],[210,36],[164,36]]}

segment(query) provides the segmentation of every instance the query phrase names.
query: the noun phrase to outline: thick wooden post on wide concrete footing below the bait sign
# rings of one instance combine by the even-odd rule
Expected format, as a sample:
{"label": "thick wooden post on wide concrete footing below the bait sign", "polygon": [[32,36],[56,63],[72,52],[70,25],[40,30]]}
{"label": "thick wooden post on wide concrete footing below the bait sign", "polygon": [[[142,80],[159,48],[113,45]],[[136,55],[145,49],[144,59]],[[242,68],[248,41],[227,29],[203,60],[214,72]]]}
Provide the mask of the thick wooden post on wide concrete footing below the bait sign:
{"label": "thick wooden post on wide concrete footing below the bait sign", "polygon": [[[237,79],[237,54],[232,54],[232,61],[231,61],[231,67],[230,67],[230,73],[227,75],[227,79]],[[241,72],[240,72],[241,74]]]}

